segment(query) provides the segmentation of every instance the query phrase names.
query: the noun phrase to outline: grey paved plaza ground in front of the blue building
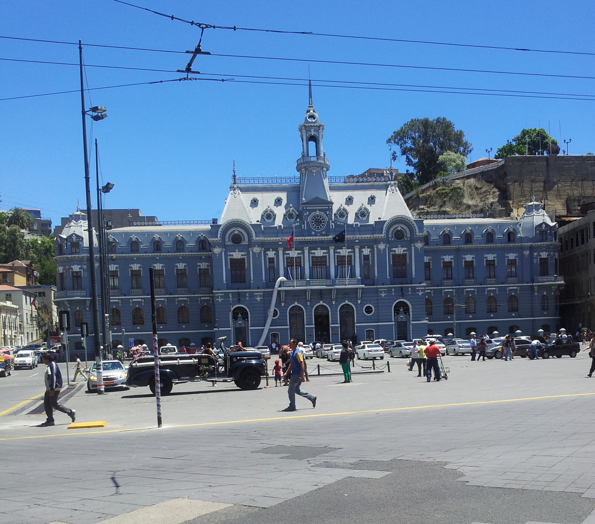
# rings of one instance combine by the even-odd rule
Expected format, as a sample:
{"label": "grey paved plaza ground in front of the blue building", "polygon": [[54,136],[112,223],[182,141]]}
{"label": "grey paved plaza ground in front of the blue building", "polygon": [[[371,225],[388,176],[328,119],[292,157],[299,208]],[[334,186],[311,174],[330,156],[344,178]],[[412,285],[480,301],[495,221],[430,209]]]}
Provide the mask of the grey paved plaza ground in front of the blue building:
{"label": "grey paved plaza ground in front of the blue building", "polygon": [[148,388],[83,382],[65,404],[104,428],[61,413],[35,427],[42,368],[15,372],[0,379],[0,523],[595,523],[586,353],[449,356],[439,383],[390,362],[347,385],[313,376],[316,408],[290,414],[286,387],[175,386],[161,429]]}

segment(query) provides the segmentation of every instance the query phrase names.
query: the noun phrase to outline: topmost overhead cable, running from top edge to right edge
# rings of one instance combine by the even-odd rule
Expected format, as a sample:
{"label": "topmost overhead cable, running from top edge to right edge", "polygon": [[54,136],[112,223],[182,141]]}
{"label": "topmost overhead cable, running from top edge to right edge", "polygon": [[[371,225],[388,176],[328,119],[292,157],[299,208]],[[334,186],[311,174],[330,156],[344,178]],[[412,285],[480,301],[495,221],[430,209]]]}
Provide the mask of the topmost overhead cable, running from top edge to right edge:
{"label": "topmost overhead cable, running from top edge to right edge", "polygon": [[498,51],[523,51],[523,52],[540,52],[540,53],[553,53],[553,54],[565,54],[565,55],[595,56],[595,53],[582,52],[582,51],[557,51],[556,49],[530,49],[530,48],[506,47],[506,46],[497,46],[497,45],[454,44],[453,42],[437,42],[437,41],[428,41],[428,40],[406,40],[406,39],[402,39],[402,38],[386,38],[386,37],[381,37],[381,36],[339,35],[339,34],[334,34],[334,33],[315,33],[312,31],[289,31],[289,30],[281,30],[281,29],[261,29],[261,28],[256,28],[256,27],[216,26],[215,24],[195,22],[193,20],[184,20],[184,18],[179,18],[174,15],[160,13],[159,11],[154,11],[154,10],[148,9],[146,7],[141,7],[140,5],[130,4],[129,2],[124,2],[123,0],[114,0],[114,2],[118,2],[118,4],[129,5],[130,7],[134,7],[134,8],[143,10],[143,11],[148,11],[149,13],[153,13],[153,14],[165,17],[165,18],[170,18],[170,20],[177,20],[180,22],[184,22],[186,24],[190,24],[192,26],[197,26],[200,29],[226,29],[226,30],[233,30],[233,31],[278,33],[281,35],[327,36],[330,38],[371,40],[371,41],[377,41],[377,42],[400,42],[403,44],[428,44],[428,45],[444,45],[444,46],[453,46],[453,47],[466,47],[466,48],[474,48],[474,49],[496,49]]}

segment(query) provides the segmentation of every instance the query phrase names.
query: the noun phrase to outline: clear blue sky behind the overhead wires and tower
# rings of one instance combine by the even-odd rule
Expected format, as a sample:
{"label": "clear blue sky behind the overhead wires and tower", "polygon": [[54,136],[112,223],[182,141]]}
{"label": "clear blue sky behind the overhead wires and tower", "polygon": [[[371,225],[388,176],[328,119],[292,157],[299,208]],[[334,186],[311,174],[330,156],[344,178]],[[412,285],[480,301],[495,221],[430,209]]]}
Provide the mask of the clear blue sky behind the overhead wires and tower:
{"label": "clear blue sky behind the overhead wires and tower", "polygon": [[[215,25],[380,36],[399,39],[595,52],[595,3],[421,0],[418,2],[190,2],[132,0],[156,11]],[[0,35],[186,51],[200,30],[112,0],[4,0]],[[0,39],[0,58],[78,63],[73,45]],[[471,49],[206,29],[203,51],[595,76],[594,56]],[[85,47],[86,64],[184,69],[189,55]],[[308,63],[198,57],[194,69],[214,78],[239,75],[306,79]],[[88,67],[90,88],[178,78],[178,73]],[[595,153],[595,101],[372,91],[317,86],[320,80],[591,94],[595,80],[439,72],[311,63],[314,105],[326,125],[331,175],[389,165],[386,139],[414,117],[444,116],[463,129],[471,160],[493,152],[522,128],[540,125],[571,154]],[[0,98],[79,88],[74,66],[0,60]],[[242,176],[295,175],[297,126],[307,88],[234,82],[170,82],[92,91],[87,107],[108,108],[93,125],[102,180],[114,182],[107,207],[138,207],[162,220],[220,216],[232,161]],[[87,120],[89,131],[90,120]],[[0,209],[37,207],[59,223],[84,207],[80,96],[0,101]],[[560,133],[561,128],[561,133]],[[560,147],[565,147],[560,143]],[[493,154],[493,153],[491,153]],[[92,159],[92,173],[94,173]],[[405,170],[399,161],[395,165]],[[93,204],[95,207],[95,203]]]}

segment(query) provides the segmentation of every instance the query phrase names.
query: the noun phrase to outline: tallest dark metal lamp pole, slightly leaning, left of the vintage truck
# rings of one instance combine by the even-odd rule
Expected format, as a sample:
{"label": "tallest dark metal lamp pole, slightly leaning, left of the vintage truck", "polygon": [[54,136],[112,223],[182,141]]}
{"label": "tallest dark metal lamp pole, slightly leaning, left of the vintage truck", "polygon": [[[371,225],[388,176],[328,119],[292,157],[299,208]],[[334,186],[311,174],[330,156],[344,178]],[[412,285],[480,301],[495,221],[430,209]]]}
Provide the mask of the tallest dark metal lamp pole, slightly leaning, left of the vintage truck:
{"label": "tallest dark metal lamp pole, slightly leaning, left of the vintage truck", "polygon": [[95,343],[95,364],[97,368],[97,393],[103,395],[104,370],[101,340],[99,340],[99,303],[97,299],[97,275],[95,274],[95,241],[93,240],[93,217],[91,216],[91,187],[89,179],[89,151],[87,151],[87,119],[84,109],[83,45],[79,40],[80,107],[83,117],[84,185],[87,196],[87,232],[89,233],[89,273],[91,275],[91,303],[93,306],[93,342]]}

